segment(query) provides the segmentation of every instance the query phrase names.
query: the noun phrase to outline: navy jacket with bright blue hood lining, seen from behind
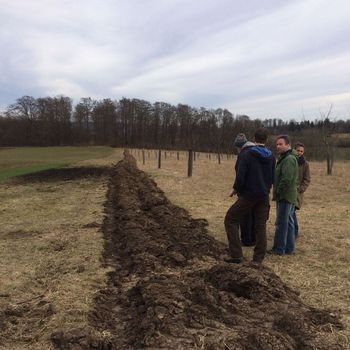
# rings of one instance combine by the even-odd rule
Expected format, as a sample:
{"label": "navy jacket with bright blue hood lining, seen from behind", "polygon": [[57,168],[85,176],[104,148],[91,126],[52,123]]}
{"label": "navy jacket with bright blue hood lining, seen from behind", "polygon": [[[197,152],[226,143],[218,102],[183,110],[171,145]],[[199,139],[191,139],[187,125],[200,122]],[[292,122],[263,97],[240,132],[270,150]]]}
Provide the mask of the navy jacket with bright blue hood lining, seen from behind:
{"label": "navy jacket with bright blue hood lining, seen from behind", "polygon": [[233,188],[246,199],[260,199],[269,195],[274,182],[275,158],[264,146],[243,148],[236,162]]}

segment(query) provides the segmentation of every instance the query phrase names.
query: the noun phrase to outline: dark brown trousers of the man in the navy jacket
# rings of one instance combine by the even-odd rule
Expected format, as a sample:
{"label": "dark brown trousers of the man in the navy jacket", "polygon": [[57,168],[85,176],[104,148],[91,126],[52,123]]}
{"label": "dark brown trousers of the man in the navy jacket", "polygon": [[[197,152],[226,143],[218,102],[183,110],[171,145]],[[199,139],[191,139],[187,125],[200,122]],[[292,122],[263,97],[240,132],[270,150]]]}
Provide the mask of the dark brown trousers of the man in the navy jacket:
{"label": "dark brown trousers of the man in the navy jacket", "polygon": [[248,200],[238,197],[225,216],[225,229],[232,258],[243,258],[242,245],[239,239],[239,222],[249,211],[254,212],[254,230],[256,233],[256,245],[253,260],[262,262],[266,254],[266,221],[269,217],[269,198]]}

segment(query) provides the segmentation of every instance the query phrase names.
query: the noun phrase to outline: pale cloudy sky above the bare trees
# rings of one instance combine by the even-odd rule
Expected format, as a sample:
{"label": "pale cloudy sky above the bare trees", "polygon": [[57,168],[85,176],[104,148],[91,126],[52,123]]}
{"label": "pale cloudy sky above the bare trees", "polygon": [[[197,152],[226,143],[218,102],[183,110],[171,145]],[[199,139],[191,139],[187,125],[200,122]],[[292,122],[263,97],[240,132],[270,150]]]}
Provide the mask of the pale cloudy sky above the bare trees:
{"label": "pale cloudy sky above the bare trees", "polygon": [[350,119],[349,0],[0,0],[0,108],[139,98]]}

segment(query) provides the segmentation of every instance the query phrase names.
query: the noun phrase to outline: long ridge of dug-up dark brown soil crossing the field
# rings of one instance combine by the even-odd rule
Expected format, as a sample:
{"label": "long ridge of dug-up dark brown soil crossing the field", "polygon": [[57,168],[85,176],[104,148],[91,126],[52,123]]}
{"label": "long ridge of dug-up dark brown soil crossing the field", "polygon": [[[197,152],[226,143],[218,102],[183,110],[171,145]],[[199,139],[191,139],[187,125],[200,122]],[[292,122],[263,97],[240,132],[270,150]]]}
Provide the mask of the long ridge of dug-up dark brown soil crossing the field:
{"label": "long ridge of dug-up dark brown soil crossing the field", "polygon": [[223,262],[205,220],[128,155],[112,171],[103,232],[108,286],[91,329],[53,335],[59,349],[342,349],[327,337],[338,315],[305,305],[263,265]]}

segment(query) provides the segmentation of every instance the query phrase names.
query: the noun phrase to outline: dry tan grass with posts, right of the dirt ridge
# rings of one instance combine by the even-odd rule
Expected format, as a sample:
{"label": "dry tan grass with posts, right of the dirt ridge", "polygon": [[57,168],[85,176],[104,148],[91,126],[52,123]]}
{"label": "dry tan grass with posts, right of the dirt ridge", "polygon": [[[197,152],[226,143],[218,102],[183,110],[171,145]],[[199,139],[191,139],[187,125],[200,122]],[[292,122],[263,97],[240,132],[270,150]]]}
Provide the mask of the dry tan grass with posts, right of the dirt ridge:
{"label": "dry tan grass with posts, right of the dirt ridge", "polygon": [[[226,242],[223,218],[232,199],[228,194],[234,180],[235,159],[226,156],[218,165],[212,155],[200,154],[194,163],[193,177],[187,178],[186,155],[176,154],[162,161],[157,169],[154,154],[142,158],[134,152],[140,169],[152,175],[159,187],[175,204],[196,218],[206,218],[210,233]],[[295,256],[268,256],[264,263],[286,283],[301,293],[309,305],[340,310],[347,327],[336,333],[338,341],[350,348],[350,162],[335,163],[334,174],[326,175],[324,163],[311,163],[312,183],[305,194],[305,205],[298,212],[300,236]],[[269,247],[274,236],[275,203],[268,222]],[[247,257],[250,248],[244,248]]]}

